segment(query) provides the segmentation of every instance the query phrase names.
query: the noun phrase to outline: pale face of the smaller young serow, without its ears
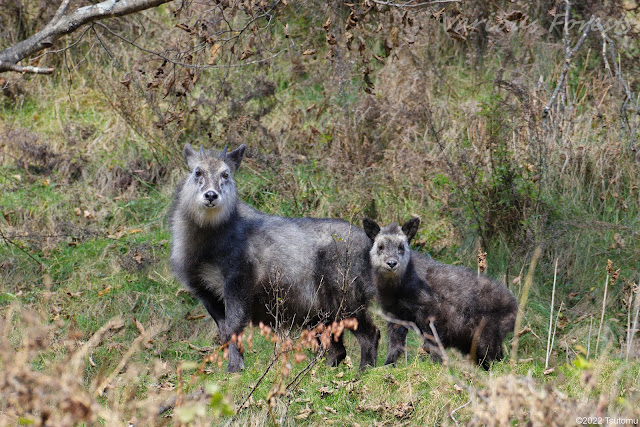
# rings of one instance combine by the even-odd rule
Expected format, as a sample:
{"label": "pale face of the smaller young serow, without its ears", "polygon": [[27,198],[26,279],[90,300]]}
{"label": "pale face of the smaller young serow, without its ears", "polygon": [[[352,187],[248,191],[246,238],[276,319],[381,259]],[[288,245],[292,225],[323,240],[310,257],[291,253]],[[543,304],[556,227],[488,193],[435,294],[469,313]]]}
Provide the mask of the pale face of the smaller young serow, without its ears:
{"label": "pale face of the smaller young serow, without its ears", "polygon": [[369,252],[374,270],[385,277],[402,277],[410,259],[407,236],[383,229],[375,238]]}

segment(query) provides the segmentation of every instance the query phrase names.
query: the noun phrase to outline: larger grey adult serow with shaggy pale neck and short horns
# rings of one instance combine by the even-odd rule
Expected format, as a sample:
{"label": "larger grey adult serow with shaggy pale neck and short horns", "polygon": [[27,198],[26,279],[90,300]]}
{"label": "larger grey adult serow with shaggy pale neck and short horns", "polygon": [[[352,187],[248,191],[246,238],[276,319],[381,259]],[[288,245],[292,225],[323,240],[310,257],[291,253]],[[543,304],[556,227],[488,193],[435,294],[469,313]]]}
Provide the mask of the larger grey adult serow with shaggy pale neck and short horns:
{"label": "larger grey adult serow with shaggy pale neck and short horns", "polygon": [[[229,372],[244,368],[231,342],[250,321],[274,326],[331,323],[354,317],[360,367],[375,365],[380,332],[367,308],[375,296],[371,243],[346,221],[284,218],[239,201],[234,172],[245,145],[227,153],[184,147],[189,175],[170,211],[174,274],[206,307],[229,343]],[[327,363],[346,357],[331,340]]]}

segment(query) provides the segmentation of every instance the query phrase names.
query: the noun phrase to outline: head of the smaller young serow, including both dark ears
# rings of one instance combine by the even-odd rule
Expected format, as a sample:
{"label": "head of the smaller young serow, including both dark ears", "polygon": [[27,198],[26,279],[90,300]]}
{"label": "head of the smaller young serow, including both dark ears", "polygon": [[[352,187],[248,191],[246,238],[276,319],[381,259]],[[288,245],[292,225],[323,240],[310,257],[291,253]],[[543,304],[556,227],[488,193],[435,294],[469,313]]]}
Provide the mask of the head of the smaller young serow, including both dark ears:
{"label": "head of the smaller young serow, including both dark ears", "polygon": [[373,240],[369,255],[374,270],[385,276],[404,274],[411,259],[409,241],[415,235],[419,223],[418,218],[413,218],[402,228],[394,223],[380,229],[373,220],[363,220],[364,230]]}

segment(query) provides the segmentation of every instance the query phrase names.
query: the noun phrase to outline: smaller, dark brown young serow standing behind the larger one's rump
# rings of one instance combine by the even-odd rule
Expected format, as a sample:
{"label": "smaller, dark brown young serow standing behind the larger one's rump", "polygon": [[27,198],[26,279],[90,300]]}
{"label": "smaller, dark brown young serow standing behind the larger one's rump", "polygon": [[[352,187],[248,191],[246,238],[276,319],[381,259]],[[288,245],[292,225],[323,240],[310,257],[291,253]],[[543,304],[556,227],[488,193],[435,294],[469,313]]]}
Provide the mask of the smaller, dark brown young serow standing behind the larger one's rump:
{"label": "smaller, dark brown young serow standing behind the larger one's rump", "polygon": [[[502,341],[513,331],[518,306],[502,284],[473,271],[442,264],[417,251],[409,242],[420,224],[413,218],[402,227],[380,229],[365,218],[364,230],[373,241],[371,265],[382,309],[394,319],[413,322],[423,335],[433,335],[429,319],[444,347],[471,354],[489,369],[503,357]],[[389,351],[385,364],[395,363],[405,348],[407,328],[390,321]],[[424,348],[440,359],[438,347],[425,338]]]}

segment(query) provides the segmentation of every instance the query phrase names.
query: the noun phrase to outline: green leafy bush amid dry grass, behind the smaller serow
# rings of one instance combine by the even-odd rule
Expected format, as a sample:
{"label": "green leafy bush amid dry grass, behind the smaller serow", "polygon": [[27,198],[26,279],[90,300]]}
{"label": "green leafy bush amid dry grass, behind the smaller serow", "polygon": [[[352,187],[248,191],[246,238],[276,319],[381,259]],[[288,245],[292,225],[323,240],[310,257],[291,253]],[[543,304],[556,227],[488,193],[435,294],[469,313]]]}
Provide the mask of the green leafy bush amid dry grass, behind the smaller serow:
{"label": "green leafy bush amid dry grass, behind the smaller serow", "polygon": [[[499,236],[521,241],[525,231],[535,231],[535,221],[543,209],[541,171],[514,149],[512,105],[499,93],[481,97],[478,102],[482,137],[474,144],[463,140],[456,157],[450,160],[454,165],[452,190],[485,247]],[[436,181],[439,185],[442,182]]]}

